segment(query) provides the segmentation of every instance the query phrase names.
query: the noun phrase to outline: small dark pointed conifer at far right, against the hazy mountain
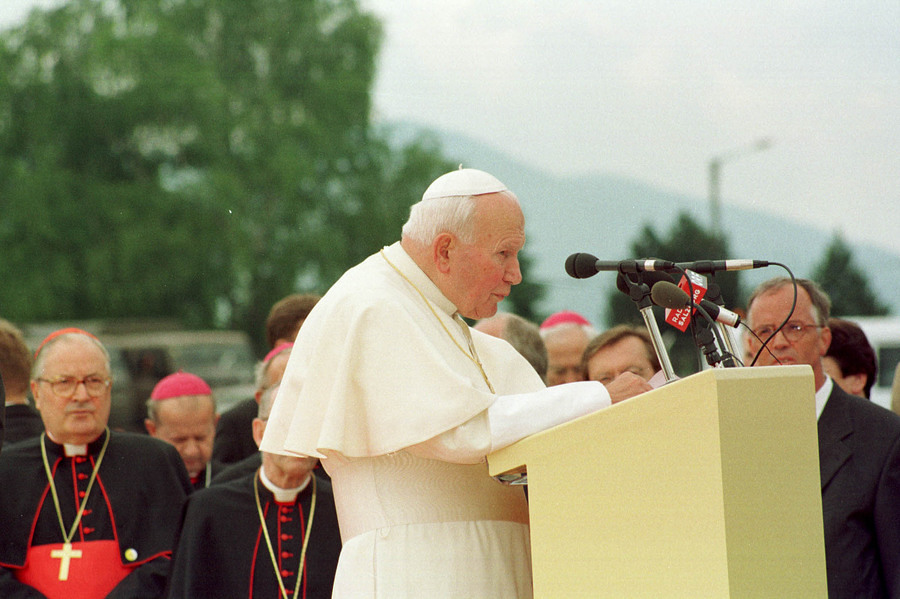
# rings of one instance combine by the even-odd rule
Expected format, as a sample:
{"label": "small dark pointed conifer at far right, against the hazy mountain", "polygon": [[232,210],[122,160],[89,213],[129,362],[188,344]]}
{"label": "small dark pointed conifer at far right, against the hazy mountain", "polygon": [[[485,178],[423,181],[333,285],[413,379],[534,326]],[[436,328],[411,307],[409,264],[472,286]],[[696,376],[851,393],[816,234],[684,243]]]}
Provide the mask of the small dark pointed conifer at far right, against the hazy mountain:
{"label": "small dark pointed conifer at far right, against the hazy mountain", "polygon": [[831,298],[833,316],[885,316],[890,310],[869,286],[869,280],[853,261],[853,252],[840,233],[835,233],[812,279]]}

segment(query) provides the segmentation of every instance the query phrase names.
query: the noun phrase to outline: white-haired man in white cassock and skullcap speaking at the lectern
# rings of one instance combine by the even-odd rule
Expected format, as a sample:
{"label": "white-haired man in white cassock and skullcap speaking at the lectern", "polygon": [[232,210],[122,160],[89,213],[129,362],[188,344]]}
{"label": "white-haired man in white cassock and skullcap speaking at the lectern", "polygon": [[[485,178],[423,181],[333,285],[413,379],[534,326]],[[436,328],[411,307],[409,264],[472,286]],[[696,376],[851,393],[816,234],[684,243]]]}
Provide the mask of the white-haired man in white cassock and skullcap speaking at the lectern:
{"label": "white-haired man in white cassock and skullcap speaking at the lectern", "polygon": [[318,457],[331,476],[335,597],[530,597],[524,492],[485,456],[650,389],[629,373],[545,389],[506,341],[466,325],[521,281],[524,243],[516,196],[453,171],[300,329],[260,449]]}

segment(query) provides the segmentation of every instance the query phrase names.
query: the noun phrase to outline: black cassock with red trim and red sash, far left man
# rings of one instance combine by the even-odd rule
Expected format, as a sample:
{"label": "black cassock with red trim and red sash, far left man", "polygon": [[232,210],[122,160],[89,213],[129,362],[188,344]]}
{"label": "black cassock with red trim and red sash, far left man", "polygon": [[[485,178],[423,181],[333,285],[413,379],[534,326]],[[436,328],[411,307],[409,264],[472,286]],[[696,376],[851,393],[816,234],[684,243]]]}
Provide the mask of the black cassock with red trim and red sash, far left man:
{"label": "black cassock with red trim and red sash, far left man", "polygon": [[[64,551],[41,443],[68,534],[109,434],[71,551]],[[0,597],[139,599],[164,592],[191,491],[173,446],[120,432],[104,432],[87,446],[41,436],[3,451],[0,489]]]}

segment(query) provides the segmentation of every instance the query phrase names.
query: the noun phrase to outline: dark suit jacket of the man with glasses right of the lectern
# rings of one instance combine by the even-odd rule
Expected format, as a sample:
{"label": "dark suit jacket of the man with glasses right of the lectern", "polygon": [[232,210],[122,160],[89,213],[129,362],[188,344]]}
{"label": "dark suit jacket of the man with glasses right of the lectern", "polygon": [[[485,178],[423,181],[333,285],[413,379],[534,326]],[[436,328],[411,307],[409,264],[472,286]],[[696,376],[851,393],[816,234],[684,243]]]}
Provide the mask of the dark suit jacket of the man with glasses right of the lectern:
{"label": "dark suit jacket of the man with glasses right of the lectern", "polygon": [[818,433],[828,595],[900,597],[900,416],[835,384]]}

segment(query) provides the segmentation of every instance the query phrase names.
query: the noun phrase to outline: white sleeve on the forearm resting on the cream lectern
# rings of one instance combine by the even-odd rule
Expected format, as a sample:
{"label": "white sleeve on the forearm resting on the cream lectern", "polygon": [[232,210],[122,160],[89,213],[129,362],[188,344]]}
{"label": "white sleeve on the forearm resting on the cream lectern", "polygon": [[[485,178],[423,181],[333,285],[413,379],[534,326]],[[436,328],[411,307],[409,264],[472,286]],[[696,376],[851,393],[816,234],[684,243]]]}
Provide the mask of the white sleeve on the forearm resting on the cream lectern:
{"label": "white sleeve on the forearm resting on the cream lectern", "polygon": [[488,407],[491,451],[612,405],[597,381],[579,381],[531,393],[500,395]]}

